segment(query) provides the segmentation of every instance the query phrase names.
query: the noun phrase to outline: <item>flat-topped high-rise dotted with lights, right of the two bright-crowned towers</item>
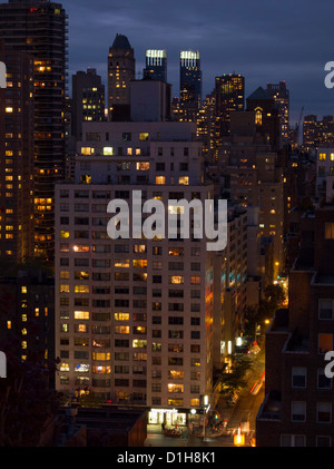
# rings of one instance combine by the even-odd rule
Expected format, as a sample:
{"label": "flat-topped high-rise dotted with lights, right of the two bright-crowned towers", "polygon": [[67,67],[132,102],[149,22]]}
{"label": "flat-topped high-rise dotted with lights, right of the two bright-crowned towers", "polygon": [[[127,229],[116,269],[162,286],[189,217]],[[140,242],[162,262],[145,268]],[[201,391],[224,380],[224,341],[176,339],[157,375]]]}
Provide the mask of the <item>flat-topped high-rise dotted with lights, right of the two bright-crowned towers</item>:
{"label": "flat-topped high-rise dotted with lights, right of the two bright-crowned towers", "polygon": [[240,75],[216,77],[215,86],[215,145],[229,135],[230,113],[243,111],[245,106],[245,78]]}

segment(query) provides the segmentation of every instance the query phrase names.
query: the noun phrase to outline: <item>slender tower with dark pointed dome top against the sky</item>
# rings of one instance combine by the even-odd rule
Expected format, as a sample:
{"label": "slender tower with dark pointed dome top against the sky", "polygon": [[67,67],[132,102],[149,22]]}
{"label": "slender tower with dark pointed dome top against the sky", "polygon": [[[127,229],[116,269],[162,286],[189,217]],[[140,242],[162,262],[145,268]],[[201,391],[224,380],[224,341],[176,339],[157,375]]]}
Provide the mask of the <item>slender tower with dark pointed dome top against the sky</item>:
{"label": "slender tower with dark pointed dome top against the sky", "polygon": [[108,57],[109,120],[130,119],[130,81],[136,76],[135,52],[128,38],[116,35]]}

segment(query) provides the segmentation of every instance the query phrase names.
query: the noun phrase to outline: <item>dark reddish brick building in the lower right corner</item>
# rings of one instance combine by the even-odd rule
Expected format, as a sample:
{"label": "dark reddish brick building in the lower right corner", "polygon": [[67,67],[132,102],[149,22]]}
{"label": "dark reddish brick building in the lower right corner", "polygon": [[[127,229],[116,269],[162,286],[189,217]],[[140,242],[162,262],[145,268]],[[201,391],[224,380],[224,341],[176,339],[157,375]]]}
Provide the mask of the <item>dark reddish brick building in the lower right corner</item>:
{"label": "dark reddish brick building in the lower right corner", "polygon": [[265,399],[256,420],[258,447],[333,447],[334,209],[323,204],[301,219],[299,252],[289,271],[288,309],[266,334]]}

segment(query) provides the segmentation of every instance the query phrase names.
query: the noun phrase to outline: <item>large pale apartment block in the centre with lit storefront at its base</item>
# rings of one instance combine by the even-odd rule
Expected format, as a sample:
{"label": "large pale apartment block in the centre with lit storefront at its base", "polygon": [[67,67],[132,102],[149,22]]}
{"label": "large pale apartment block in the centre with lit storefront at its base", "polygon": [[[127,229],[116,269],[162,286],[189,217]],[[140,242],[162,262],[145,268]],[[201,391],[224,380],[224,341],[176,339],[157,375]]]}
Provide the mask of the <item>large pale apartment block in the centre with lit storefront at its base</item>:
{"label": "large pale apartment block in the centre with lit storefront at its base", "polygon": [[78,153],[75,184],[57,186],[57,389],[185,421],[212,399],[214,253],[194,236],[110,240],[107,204],[131,209],[140,189],[168,217],[169,199],[213,198],[196,124],[85,123]]}

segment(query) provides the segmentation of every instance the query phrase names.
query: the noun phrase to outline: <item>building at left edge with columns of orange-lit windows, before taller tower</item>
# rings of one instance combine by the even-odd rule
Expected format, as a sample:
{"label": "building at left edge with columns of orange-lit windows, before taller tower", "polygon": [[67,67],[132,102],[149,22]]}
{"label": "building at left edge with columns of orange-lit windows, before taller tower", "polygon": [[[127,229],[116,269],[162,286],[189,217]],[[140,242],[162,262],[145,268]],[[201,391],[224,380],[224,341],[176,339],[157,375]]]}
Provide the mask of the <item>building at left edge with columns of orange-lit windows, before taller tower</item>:
{"label": "building at left edge with columns of orange-lit windows, before taller tower", "polygon": [[33,59],[0,46],[7,88],[0,89],[0,256],[31,258],[33,240]]}

